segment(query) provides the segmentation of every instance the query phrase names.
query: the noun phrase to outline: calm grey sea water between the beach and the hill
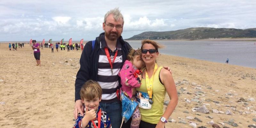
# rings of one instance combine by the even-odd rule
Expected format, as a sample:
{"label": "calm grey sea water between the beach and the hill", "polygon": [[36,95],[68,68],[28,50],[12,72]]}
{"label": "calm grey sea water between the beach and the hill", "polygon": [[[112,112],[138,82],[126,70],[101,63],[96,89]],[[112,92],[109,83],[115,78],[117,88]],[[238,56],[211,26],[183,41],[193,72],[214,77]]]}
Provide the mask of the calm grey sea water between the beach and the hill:
{"label": "calm grey sea water between the beach and the hill", "polygon": [[[26,44],[28,41],[24,41]],[[72,41],[79,43],[80,41]],[[87,42],[87,41],[84,41]],[[141,40],[128,40],[132,48],[138,49]],[[256,42],[252,41],[156,41],[164,48],[159,49],[161,54],[180,56],[192,59],[207,60],[212,62],[256,68]],[[0,42],[16,43],[16,42]],[[17,43],[23,43],[19,41]],[[57,43],[57,41],[52,41]],[[68,43],[68,41],[65,41]],[[254,44],[255,43],[255,44]]]}

